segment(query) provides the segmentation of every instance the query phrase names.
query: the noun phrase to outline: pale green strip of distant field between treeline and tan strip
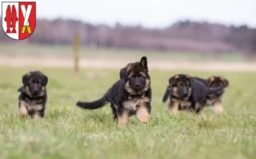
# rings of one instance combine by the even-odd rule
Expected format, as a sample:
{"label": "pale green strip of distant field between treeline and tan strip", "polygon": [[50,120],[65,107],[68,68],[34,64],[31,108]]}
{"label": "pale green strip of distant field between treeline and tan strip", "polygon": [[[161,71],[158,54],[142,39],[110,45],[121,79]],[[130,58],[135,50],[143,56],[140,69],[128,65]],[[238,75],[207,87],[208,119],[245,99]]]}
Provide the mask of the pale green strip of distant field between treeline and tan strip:
{"label": "pale green strip of distant field between treeline and tan strip", "polygon": [[[0,56],[20,57],[58,57],[72,58],[72,46],[48,46],[48,45],[24,45],[24,44],[0,44]],[[180,53],[180,52],[158,52],[158,51],[139,51],[128,49],[96,49],[81,47],[80,55],[83,58],[130,58],[137,59],[142,55],[154,60],[189,60],[189,61],[244,61],[246,57],[239,53],[230,54],[199,54],[199,53]]]}

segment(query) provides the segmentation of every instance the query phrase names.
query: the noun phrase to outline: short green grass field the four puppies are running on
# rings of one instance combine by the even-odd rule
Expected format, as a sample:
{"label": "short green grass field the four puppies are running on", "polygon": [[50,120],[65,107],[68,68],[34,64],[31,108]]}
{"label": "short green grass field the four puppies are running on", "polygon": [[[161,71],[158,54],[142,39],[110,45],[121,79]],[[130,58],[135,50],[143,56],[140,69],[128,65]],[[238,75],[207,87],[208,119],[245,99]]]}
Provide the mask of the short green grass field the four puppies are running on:
{"label": "short green grass field the four puppies are running on", "polygon": [[[150,65],[150,64],[149,64]],[[0,67],[0,158],[255,158],[255,73],[150,70],[153,101],[147,124],[132,117],[125,128],[113,122],[109,106],[84,111],[78,99],[94,100],[119,78],[117,70],[47,69],[49,100],[45,118],[21,118],[18,92],[21,76],[31,68]],[[149,67],[150,69],[150,67]],[[199,116],[171,116],[161,98],[175,73],[208,77],[224,75],[230,87],[224,114],[210,107]]]}

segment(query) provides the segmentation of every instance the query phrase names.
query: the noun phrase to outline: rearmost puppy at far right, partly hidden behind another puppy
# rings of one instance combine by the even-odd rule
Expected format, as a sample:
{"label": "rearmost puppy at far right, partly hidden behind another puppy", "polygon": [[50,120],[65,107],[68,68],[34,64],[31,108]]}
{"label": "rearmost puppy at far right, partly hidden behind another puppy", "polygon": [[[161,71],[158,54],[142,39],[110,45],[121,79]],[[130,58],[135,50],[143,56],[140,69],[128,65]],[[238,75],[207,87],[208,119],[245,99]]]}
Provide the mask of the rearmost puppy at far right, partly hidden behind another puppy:
{"label": "rearmost puppy at far right, partly hidden behind another puppy", "polygon": [[[224,77],[211,76],[207,79],[203,79],[200,77],[193,77],[194,79],[204,83],[208,88],[218,88],[224,86],[227,88],[229,86],[229,81]],[[219,91],[216,94],[208,94],[207,100],[204,106],[213,105],[213,110],[216,113],[222,113],[224,111],[222,106],[222,98],[224,96],[224,90]]]}

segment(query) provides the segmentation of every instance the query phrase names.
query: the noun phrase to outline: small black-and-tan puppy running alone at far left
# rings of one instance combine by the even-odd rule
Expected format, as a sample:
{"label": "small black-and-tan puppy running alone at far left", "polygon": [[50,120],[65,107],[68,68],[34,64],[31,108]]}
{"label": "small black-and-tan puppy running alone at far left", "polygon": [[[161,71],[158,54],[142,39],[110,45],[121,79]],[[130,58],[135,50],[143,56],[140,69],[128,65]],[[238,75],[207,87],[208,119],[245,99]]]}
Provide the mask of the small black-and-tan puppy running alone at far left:
{"label": "small black-and-tan puppy running alone at far left", "polygon": [[41,71],[30,71],[22,76],[22,82],[23,86],[18,89],[20,116],[43,118],[48,77]]}

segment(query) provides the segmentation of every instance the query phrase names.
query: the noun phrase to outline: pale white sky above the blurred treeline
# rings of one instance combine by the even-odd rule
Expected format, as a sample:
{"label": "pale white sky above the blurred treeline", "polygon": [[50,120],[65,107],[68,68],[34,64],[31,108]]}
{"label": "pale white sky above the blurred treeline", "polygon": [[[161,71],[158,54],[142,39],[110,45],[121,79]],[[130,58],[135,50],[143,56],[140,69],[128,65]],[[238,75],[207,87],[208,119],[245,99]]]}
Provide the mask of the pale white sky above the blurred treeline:
{"label": "pale white sky above the blurred treeline", "polygon": [[[26,1],[26,0],[24,0]],[[10,1],[9,1],[10,2]],[[165,27],[176,20],[208,20],[256,27],[256,0],[36,0],[38,18],[74,18],[114,25]]]}

